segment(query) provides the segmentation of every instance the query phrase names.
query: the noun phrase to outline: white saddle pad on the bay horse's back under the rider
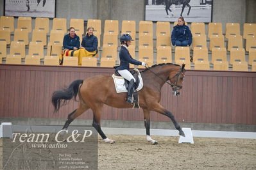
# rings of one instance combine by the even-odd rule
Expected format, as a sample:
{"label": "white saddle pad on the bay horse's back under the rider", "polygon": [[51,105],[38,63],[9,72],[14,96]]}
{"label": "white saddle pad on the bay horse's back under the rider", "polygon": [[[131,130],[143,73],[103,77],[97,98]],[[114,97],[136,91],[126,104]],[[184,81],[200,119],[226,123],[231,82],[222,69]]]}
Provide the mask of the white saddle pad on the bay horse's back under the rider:
{"label": "white saddle pad on the bay horse's back under the rider", "polygon": [[[135,91],[139,91],[143,88],[143,81],[142,81],[142,77],[141,77],[141,73],[139,72],[139,70],[137,68],[134,68],[133,70],[135,70],[135,72],[138,72],[139,75],[139,86]],[[125,93],[127,92],[127,89],[125,88],[124,85],[124,78],[121,76],[116,76],[115,74],[112,75],[113,79],[114,79],[114,84],[115,84],[115,90],[117,93]]]}

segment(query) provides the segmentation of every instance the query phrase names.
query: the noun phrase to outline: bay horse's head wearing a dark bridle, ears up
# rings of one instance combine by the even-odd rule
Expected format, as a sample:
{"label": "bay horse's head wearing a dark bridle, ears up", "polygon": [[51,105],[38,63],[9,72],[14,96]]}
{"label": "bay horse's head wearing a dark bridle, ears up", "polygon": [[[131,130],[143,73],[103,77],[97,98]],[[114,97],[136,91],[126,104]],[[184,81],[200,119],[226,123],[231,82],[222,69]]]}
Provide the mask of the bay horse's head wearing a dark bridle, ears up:
{"label": "bay horse's head wearing a dark bridle, ears up", "polygon": [[171,82],[171,88],[175,96],[180,95],[179,89],[182,89],[182,82],[185,77],[185,64],[182,64],[179,69],[169,74],[169,81]]}

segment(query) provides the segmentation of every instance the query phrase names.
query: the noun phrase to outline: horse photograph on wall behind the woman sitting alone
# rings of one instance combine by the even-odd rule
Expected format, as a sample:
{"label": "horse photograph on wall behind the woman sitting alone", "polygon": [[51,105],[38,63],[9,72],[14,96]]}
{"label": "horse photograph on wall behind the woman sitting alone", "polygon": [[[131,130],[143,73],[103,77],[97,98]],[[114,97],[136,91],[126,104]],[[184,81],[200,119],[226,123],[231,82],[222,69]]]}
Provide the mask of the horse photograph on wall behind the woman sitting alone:
{"label": "horse photograph on wall behind the woman sitting alone", "polygon": [[145,20],[212,22],[212,0],[146,0]]}

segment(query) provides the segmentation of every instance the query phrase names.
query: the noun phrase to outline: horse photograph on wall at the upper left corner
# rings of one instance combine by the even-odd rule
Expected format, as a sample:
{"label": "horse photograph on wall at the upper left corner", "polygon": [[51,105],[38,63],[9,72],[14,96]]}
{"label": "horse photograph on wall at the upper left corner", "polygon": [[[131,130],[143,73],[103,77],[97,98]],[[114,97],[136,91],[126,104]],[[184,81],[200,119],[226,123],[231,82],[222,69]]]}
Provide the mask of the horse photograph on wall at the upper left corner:
{"label": "horse photograph on wall at the upper left corner", "polygon": [[55,17],[56,0],[5,0],[4,15],[13,17]]}

